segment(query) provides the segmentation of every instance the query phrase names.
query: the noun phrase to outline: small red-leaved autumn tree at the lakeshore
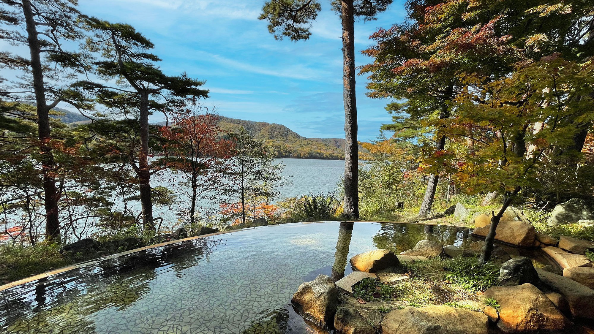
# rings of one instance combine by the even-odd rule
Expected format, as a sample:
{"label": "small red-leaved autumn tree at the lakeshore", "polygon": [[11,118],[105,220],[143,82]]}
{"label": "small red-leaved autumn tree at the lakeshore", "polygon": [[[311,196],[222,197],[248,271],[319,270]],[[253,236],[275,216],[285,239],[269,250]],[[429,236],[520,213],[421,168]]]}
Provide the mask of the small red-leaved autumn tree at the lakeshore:
{"label": "small red-leaved autumn tree at the lakeshore", "polygon": [[189,223],[194,225],[197,200],[220,198],[225,184],[226,159],[232,154],[233,141],[225,137],[217,124],[217,115],[204,112],[194,101],[173,111],[170,121],[171,124],[160,131],[166,140],[168,165],[181,172],[191,188]]}

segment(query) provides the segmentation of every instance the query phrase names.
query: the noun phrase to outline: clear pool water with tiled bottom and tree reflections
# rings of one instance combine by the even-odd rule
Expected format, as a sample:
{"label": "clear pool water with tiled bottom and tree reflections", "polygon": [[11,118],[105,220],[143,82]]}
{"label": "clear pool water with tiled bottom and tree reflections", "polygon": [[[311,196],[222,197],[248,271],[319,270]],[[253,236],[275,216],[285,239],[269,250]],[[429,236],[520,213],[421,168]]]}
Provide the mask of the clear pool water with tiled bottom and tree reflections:
{"label": "clear pool water with tiled bottom and tree reflections", "polygon": [[452,226],[308,223],[179,242],[104,260],[0,292],[8,333],[321,333],[289,307],[320,273],[342,278],[350,257],[397,253],[429,239],[464,246]]}

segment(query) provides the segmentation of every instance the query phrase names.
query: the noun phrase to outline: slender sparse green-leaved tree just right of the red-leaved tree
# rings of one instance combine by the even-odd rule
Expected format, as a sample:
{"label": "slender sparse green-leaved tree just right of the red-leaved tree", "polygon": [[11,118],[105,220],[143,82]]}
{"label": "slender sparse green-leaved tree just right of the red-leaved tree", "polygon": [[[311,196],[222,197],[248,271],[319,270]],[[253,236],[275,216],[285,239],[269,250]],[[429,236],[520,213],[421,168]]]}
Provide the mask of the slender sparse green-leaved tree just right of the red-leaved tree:
{"label": "slender sparse green-leaved tree just right of the red-leaved tree", "polygon": [[[241,222],[246,222],[248,207],[257,208],[264,198],[265,205],[270,200],[279,196],[278,188],[287,183],[282,175],[285,165],[274,163],[270,153],[264,148],[260,140],[254,139],[245,128],[239,133],[231,134],[234,142],[232,157],[226,169],[226,176],[229,177],[226,194],[232,201],[238,200],[238,207],[234,204],[226,204],[228,212],[239,212]],[[258,203],[255,203],[258,201]],[[231,206],[231,207],[229,207]],[[264,210],[266,208],[261,208]]]}

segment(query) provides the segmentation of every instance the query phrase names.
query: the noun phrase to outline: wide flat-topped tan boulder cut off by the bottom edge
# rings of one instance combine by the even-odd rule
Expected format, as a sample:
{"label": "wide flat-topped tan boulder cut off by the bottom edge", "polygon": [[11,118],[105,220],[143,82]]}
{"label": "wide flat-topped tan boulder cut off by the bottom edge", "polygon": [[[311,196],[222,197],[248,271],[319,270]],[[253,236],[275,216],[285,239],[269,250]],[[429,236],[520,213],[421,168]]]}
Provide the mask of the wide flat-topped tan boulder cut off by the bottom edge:
{"label": "wide flat-topped tan boulder cut off by the bottom edge", "polygon": [[408,306],[390,311],[381,326],[382,334],[486,334],[488,318],[464,308]]}

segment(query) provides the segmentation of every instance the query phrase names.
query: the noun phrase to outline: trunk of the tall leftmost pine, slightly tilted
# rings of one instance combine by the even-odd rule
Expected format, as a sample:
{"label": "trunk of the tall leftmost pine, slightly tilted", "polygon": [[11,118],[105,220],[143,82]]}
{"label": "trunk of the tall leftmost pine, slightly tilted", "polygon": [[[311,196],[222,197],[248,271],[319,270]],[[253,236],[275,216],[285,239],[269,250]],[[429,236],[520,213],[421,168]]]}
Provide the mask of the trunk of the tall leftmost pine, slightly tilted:
{"label": "trunk of the tall leftmost pine, slightly tilted", "polygon": [[27,26],[27,42],[31,53],[31,74],[37,106],[37,128],[40,152],[42,155],[43,193],[45,196],[46,238],[60,242],[60,223],[58,219],[58,188],[53,176],[54,161],[49,147],[51,129],[49,127],[49,107],[45,97],[43,67],[41,64],[41,46],[37,38],[37,24],[31,10],[31,2],[23,0],[23,14]]}

